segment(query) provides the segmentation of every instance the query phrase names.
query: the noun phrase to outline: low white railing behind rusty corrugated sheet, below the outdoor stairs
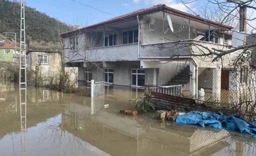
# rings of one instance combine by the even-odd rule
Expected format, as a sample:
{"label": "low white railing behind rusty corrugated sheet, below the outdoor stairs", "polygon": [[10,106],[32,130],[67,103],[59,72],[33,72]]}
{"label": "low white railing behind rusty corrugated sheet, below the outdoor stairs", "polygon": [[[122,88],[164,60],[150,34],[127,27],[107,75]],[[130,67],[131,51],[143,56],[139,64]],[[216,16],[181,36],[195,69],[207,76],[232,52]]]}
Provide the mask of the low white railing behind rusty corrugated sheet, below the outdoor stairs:
{"label": "low white railing behind rusty corrugated sheet, below the outdoor stairs", "polygon": [[150,87],[150,91],[181,97],[182,96],[182,85]]}

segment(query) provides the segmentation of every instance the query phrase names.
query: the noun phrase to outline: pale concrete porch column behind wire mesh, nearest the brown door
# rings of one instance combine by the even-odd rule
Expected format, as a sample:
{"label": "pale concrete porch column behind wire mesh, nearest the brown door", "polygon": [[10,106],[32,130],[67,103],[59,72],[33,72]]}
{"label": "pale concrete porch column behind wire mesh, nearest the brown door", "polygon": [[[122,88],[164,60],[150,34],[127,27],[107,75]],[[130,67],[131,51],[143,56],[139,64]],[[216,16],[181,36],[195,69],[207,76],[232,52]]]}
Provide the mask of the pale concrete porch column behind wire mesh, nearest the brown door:
{"label": "pale concrete porch column behind wire mesh, nearest the brown door", "polygon": [[221,85],[221,68],[217,67],[212,70],[212,100],[220,102],[220,85]]}

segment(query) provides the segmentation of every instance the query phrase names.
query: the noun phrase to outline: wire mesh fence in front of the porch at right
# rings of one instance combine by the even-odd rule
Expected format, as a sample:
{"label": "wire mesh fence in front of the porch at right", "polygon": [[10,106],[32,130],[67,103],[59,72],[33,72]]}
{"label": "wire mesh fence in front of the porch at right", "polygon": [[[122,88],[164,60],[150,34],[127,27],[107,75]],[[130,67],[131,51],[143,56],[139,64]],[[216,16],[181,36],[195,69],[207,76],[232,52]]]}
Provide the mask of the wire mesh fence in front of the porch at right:
{"label": "wire mesh fence in front of the porch at right", "polygon": [[198,77],[191,76],[188,83],[151,86],[150,92],[193,98],[214,111],[256,120],[256,71],[253,68],[201,68]]}

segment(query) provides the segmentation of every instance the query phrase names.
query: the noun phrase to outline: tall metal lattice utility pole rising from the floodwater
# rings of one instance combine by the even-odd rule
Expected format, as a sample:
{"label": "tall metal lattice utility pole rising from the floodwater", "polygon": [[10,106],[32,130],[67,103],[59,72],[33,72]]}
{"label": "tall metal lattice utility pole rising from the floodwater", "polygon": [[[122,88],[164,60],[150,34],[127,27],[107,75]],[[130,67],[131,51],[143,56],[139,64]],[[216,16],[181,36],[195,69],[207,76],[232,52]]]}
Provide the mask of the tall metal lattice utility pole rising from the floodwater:
{"label": "tall metal lattice utility pole rising from the floodwater", "polygon": [[[24,64],[23,64],[22,59],[24,59]],[[27,79],[26,79],[26,36],[25,36],[25,0],[21,0],[21,7],[20,7],[20,85],[21,84],[25,84],[25,86],[27,86]]]}

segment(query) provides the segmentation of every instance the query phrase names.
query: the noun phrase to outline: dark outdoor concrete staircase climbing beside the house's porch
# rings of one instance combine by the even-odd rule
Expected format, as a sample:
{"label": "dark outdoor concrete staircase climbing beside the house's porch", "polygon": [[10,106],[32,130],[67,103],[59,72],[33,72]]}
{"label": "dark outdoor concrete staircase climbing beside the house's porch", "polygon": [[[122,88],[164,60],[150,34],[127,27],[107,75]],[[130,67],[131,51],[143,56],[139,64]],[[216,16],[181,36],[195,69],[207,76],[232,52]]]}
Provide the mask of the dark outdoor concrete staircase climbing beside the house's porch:
{"label": "dark outdoor concrete staircase climbing beside the house's porch", "polygon": [[190,72],[190,67],[189,65],[187,65],[181,70],[181,72],[179,72],[177,75],[174,75],[174,78],[168,81],[168,84],[166,84],[166,86],[181,85],[181,84],[183,85],[183,84],[189,83],[190,81],[189,72]]}

